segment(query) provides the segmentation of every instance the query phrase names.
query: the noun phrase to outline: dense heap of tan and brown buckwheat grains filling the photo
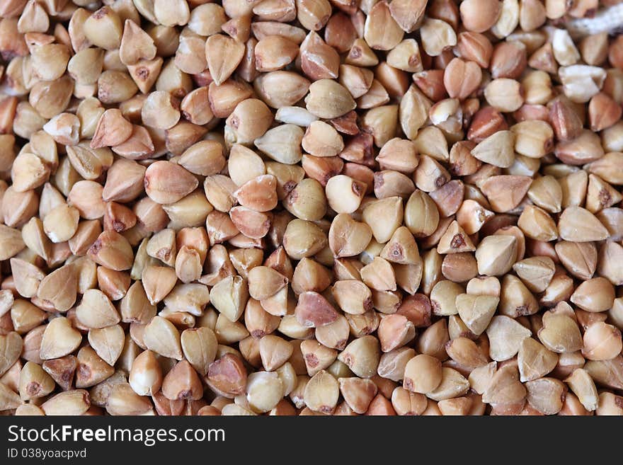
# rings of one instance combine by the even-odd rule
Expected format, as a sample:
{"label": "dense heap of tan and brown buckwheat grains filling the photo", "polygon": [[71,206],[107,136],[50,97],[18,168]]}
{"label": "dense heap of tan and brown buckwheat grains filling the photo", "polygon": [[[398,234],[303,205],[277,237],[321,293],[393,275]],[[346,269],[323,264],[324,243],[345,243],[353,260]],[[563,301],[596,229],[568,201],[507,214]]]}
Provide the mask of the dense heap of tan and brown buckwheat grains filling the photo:
{"label": "dense heap of tan and brown buckwheat grains filling the photo", "polygon": [[622,415],[617,3],[0,0],[0,411]]}

